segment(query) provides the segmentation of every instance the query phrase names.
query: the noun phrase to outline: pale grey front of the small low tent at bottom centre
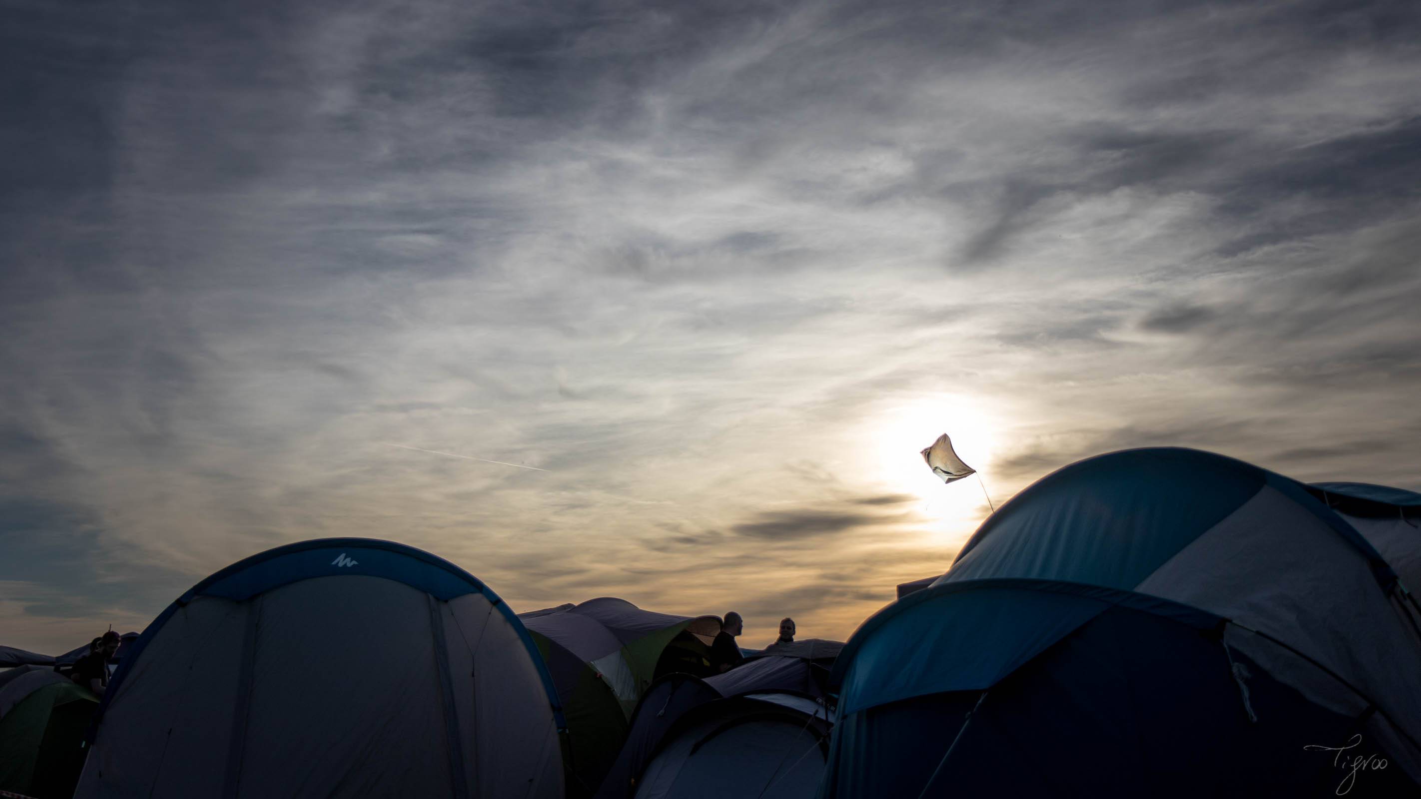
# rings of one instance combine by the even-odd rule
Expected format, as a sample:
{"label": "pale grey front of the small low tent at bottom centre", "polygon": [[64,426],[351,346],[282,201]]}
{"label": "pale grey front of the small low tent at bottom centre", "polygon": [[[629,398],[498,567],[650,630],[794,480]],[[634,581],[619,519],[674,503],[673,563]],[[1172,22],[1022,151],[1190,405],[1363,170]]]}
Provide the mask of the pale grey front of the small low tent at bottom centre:
{"label": "pale grey front of the small low tent at bottom centre", "polygon": [[823,778],[827,732],[826,720],[777,702],[716,700],[679,720],[634,796],[809,799]]}

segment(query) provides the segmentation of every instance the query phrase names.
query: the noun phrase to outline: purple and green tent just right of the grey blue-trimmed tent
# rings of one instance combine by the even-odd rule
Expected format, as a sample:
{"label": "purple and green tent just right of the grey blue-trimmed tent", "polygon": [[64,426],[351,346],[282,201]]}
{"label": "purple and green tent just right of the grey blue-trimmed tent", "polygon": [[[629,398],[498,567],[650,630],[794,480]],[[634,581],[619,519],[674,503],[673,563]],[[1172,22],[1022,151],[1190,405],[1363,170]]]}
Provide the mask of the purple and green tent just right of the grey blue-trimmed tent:
{"label": "purple and green tent just right of the grey blue-trimmed tent", "polygon": [[591,793],[627,738],[627,718],[688,629],[713,636],[715,616],[674,616],[604,596],[520,613],[567,714],[570,779]]}

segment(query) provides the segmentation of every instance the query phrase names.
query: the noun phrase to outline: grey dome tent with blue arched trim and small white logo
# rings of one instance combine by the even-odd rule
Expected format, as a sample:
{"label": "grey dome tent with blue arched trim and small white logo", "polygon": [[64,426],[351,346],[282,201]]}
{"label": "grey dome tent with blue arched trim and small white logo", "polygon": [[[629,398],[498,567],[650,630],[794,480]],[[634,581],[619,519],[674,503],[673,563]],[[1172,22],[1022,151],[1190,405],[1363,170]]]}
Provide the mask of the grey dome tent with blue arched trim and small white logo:
{"label": "grey dome tent with blue arched trim and small white logo", "polygon": [[124,659],[77,798],[563,793],[527,632],[458,566],[361,538],[202,580]]}

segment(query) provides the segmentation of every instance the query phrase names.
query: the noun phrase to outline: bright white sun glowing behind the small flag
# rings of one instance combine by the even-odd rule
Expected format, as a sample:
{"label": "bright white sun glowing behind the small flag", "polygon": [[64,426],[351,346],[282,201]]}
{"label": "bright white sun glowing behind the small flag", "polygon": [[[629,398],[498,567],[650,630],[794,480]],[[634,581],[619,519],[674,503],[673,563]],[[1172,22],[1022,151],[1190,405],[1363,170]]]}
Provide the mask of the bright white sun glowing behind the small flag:
{"label": "bright white sun glowing behind the small flag", "polygon": [[[998,451],[1000,420],[986,403],[963,395],[915,395],[884,404],[865,433],[877,454],[877,480],[885,487],[921,498],[929,518],[956,527],[980,518],[983,490],[976,475],[945,485],[922,461],[921,451],[946,433],[952,448],[968,465],[990,475]],[[936,527],[936,525],[935,525]]]}

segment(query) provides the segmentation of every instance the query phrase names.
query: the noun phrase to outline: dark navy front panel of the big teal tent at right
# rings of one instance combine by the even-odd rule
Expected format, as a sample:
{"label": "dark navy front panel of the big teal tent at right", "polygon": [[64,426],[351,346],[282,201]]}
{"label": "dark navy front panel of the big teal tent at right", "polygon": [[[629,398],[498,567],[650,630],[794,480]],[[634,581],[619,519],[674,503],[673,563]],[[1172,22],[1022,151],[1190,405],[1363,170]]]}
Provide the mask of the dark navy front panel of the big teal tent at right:
{"label": "dark navy front panel of the big teal tent at right", "polygon": [[[945,693],[844,714],[821,796],[1331,796],[1346,772],[1334,752],[1306,746],[1346,745],[1354,717],[1309,702],[1246,656],[1232,659],[1249,674],[1248,705],[1215,636],[1113,607],[985,697]],[[1390,755],[1368,738],[1373,752]],[[1368,776],[1377,781],[1361,782]],[[1358,775],[1357,789],[1405,796],[1417,785],[1388,768]]]}

